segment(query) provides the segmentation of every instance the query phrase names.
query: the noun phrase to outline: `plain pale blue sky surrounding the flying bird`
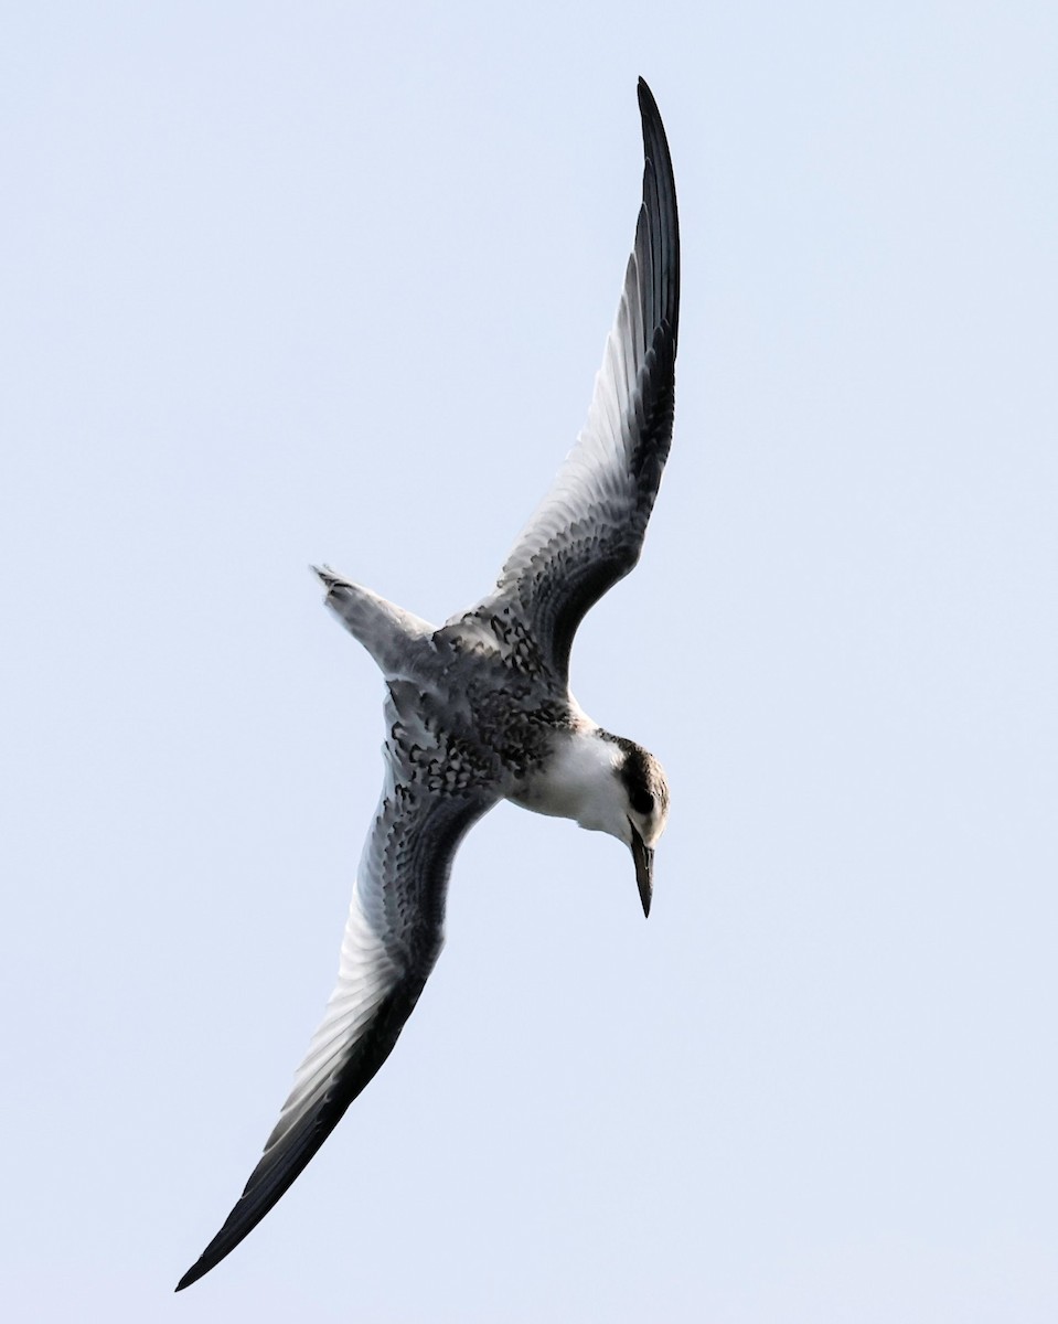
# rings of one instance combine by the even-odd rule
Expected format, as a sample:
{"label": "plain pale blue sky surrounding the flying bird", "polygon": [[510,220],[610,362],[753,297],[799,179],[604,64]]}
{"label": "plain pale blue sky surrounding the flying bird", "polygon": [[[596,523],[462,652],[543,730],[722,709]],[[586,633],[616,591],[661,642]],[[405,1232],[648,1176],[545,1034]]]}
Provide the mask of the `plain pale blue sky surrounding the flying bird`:
{"label": "plain pale blue sky surrounding the flying bird", "polygon": [[[0,28],[3,1313],[1058,1319],[1058,8],[38,3]],[[675,163],[675,441],[389,1063],[172,1296],[331,989],[381,685],[587,413]]]}

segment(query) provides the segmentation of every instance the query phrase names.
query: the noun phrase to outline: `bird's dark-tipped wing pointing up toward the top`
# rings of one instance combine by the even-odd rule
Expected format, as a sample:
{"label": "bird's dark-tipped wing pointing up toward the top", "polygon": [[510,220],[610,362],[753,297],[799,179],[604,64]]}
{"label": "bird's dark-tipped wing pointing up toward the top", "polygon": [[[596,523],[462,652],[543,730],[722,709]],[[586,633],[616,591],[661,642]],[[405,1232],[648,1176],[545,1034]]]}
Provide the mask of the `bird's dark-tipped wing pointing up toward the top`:
{"label": "bird's dark-tipped wing pointing up toward the top", "polygon": [[644,200],[588,421],[495,591],[473,616],[511,610],[567,681],[585,612],[640,559],[673,436],[679,225],[669,144],[640,79]]}

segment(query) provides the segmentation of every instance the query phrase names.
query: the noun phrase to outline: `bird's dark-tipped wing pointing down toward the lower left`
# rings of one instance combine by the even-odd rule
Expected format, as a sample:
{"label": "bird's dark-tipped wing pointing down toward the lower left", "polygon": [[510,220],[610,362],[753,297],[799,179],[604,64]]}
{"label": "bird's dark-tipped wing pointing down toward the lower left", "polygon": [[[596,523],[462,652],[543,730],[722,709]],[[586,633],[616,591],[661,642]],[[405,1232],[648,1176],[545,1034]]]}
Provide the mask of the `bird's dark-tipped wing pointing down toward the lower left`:
{"label": "bird's dark-tipped wing pointing down toward the lower left", "polygon": [[421,730],[405,733],[392,696],[387,720],[387,780],[360,861],[338,984],[261,1161],[177,1291],[234,1250],[305,1169],[389,1057],[441,951],[456,849],[497,797],[467,777],[463,785],[440,784],[445,749],[430,748]]}

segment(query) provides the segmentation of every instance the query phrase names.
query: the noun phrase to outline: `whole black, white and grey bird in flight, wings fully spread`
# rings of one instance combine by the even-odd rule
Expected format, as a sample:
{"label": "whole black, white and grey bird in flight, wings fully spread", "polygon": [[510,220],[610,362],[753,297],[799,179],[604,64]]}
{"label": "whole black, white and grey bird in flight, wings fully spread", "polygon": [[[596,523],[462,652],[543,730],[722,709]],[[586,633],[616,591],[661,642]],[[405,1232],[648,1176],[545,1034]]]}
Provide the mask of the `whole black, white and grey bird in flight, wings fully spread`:
{"label": "whole black, white and grey bird in flight, wings fully spread", "polygon": [[665,773],[641,745],[592,722],[568,688],[577,626],[640,559],[673,434],[675,185],[642,79],[638,95],[642,205],[588,421],[493,592],[436,628],[316,569],[326,605],[385,677],[381,800],[323,1023],[242,1196],[177,1291],[257,1226],[389,1057],[441,952],[456,849],[482,814],[510,800],[617,837],[650,912]]}

